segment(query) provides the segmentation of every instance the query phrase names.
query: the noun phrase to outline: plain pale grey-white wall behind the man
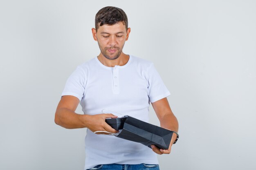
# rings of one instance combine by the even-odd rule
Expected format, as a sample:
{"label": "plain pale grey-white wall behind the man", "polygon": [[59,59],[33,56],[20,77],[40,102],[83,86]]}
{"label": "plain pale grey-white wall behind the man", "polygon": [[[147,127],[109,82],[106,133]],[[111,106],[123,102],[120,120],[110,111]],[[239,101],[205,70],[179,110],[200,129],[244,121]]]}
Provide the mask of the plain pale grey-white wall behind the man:
{"label": "plain pale grey-white wall behind the man", "polygon": [[124,53],[154,62],[171,92],[180,139],[160,168],[255,170],[254,0],[1,1],[0,169],[83,170],[85,129],[54,113],[69,75],[99,55],[91,28],[105,6],[128,15]]}

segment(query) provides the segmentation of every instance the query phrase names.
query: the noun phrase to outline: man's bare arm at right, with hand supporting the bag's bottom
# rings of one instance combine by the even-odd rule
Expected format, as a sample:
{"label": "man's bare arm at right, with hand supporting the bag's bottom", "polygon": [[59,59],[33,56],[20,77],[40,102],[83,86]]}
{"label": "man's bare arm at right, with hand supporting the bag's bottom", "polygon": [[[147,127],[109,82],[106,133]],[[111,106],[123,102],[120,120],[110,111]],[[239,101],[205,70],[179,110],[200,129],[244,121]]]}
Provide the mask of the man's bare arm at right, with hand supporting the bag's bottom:
{"label": "man's bare arm at right, with hand supporting the bag's bottom", "polygon": [[[177,118],[171,111],[167,98],[165,97],[163,99],[160,99],[152,103],[152,106],[160,121],[160,126],[162,128],[166,128],[166,129],[178,132],[179,124],[178,124]],[[163,153],[169,154],[171,152],[171,146],[173,145],[173,142],[175,141],[176,137],[177,135],[173,133],[171,144],[168,150],[163,150],[163,149],[159,150],[159,148],[153,145],[152,146],[153,151],[156,152],[157,154],[163,154]]]}

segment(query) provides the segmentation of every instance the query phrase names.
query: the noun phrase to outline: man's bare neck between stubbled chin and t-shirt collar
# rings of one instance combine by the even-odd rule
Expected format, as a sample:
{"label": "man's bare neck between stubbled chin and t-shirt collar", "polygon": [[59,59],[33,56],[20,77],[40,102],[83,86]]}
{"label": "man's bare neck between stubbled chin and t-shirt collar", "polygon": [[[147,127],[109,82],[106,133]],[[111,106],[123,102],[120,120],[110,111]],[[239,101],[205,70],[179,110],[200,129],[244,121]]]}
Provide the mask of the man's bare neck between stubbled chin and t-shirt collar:
{"label": "man's bare neck between stubbled chin and t-shirt collar", "polygon": [[100,53],[100,55],[98,56],[99,61],[103,65],[108,66],[108,67],[115,67],[116,65],[117,66],[124,66],[128,62],[129,58],[130,58],[130,56],[127,55],[127,54],[124,54],[123,52],[115,60],[107,59],[106,57],[104,57],[102,55],[102,53]]}

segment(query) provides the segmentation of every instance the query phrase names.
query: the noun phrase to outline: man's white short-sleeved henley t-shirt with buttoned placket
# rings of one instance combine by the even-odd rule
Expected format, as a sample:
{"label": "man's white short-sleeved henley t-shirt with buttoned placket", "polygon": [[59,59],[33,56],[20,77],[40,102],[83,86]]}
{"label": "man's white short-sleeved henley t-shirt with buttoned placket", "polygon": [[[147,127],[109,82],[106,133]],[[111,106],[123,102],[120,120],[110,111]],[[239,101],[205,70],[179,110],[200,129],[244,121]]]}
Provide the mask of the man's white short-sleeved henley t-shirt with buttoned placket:
{"label": "man's white short-sleeved henley t-shirt with buttoned placket", "polygon": [[[124,66],[108,67],[97,57],[79,65],[67,79],[63,95],[80,100],[84,114],[113,110],[118,117],[129,115],[148,122],[150,102],[167,97],[152,62],[131,56]],[[111,113],[111,112],[109,112]],[[143,144],[110,135],[96,135],[87,129],[85,169],[99,164],[158,164],[156,153]]]}

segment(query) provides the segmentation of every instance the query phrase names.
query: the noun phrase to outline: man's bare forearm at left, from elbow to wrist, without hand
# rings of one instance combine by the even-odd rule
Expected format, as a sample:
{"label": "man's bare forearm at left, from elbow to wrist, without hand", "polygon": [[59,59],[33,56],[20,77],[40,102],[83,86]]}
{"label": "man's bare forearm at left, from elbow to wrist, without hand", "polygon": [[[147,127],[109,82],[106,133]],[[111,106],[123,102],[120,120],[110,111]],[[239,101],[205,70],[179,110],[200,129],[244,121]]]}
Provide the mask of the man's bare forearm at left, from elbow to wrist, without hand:
{"label": "man's bare forearm at left, from elbow to wrist, without hand", "polygon": [[86,128],[88,115],[80,115],[67,108],[59,108],[55,113],[55,123],[63,128]]}

